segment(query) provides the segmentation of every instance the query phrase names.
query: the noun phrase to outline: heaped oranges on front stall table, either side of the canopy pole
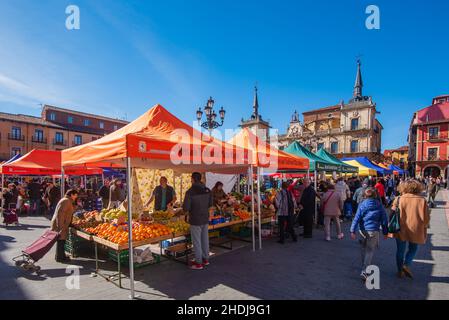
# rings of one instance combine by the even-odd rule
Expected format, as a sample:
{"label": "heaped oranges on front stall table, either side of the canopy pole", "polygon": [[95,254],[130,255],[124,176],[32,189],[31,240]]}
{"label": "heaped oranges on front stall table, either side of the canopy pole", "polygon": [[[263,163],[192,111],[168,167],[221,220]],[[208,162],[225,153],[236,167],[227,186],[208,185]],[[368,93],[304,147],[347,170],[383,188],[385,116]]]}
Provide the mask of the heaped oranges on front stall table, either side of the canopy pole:
{"label": "heaped oranges on front stall table, either side of the canopy pole", "polygon": [[[95,228],[89,228],[86,231],[116,244],[125,244],[128,242],[128,231],[123,226],[103,223]],[[157,223],[149,225],[134,223],[132,228],[133,241],[150,240],[167,236],[171,233],[172,232],[168,227]]]}

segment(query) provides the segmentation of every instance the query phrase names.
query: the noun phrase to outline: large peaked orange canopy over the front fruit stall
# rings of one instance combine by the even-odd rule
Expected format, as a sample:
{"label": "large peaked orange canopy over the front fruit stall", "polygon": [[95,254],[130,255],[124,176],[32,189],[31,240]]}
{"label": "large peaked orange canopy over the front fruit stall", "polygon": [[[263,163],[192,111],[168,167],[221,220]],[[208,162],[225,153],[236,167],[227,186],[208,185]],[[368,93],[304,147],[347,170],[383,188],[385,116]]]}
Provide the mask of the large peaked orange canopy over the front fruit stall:
{"label": "large peaked orange canopy over the front fruit stall", "polygon": [[202,134],[161,105],[127,126],[90,143],[62,151],[64,168],[126,167],[178,172],[243,173],[248,150]]}

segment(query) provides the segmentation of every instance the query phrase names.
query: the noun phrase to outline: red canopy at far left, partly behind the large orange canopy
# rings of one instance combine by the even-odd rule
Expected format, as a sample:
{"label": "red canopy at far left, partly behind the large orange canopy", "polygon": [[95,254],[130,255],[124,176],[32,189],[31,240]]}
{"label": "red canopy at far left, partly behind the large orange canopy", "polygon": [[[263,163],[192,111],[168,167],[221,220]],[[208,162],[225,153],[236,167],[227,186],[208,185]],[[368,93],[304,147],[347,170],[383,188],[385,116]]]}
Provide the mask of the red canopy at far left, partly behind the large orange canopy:
{"label": "red canopy at far left, partly behind the large orange canopy", "polygon": [[[73,167],[67,175],[101,174],[101,168]],[[61,151],[31,150],[23,157],[2,166],[5,175],[58,175],[61,174]]]}

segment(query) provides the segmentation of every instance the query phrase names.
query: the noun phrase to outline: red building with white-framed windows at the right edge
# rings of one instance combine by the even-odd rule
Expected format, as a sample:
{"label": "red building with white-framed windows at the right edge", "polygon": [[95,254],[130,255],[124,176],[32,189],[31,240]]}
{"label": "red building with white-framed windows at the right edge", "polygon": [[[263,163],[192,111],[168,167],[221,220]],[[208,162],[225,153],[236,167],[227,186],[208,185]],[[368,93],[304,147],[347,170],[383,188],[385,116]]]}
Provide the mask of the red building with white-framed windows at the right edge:
{"label": "red building with white-framed windows at the right edge", "polygon": [[416,176],[444,175],[449,166],[449,95],[413,114],[409,130],[409,170]]}

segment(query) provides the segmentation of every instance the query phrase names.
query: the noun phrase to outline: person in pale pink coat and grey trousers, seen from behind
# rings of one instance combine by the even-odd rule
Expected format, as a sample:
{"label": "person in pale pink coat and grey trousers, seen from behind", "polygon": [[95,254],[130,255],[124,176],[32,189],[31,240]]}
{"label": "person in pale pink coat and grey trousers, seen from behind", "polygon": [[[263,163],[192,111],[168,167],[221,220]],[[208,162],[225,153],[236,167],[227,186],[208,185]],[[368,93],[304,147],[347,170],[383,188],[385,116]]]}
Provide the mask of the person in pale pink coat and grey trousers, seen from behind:
{"label": "person in pale pink coat and grey trousers, seen from behind", "polygon": [[340,192],[335,190],[333,184],[327,185],[327,192],[322,197],[323,201],[323,215],[324,215],[324,230],[326,241],[331,241],[331,221],[335,221],[337,229],[337,238],[343,239],[344,234],[341,232],[340,215],[343,209],[343,199]]}

